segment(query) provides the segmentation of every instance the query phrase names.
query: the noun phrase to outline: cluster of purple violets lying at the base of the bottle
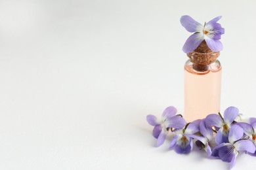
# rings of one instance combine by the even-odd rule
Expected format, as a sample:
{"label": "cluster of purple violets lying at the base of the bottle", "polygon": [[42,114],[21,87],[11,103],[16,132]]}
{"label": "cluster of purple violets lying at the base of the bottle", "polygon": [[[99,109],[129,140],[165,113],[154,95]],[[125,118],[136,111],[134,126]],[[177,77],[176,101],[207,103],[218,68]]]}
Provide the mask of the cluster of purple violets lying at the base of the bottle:
{"label": "cluster of purple violets lying at the base of the bottle", "polygon": [[220,113],[209,114],[190,123],[177,114],[175,107],[167,107],[161,120],[154,115],[148,115],[146,119],[154,126],[157,146],[164,143],[167,133],[173,133],[169,148],[179,154],[188,154],[195,141],[207,156],[229,162],[230,169],[234,167],[238,154],[245,152],[256,156],[256,118],[242,122],[236,107],[228,107],[223,116]]}

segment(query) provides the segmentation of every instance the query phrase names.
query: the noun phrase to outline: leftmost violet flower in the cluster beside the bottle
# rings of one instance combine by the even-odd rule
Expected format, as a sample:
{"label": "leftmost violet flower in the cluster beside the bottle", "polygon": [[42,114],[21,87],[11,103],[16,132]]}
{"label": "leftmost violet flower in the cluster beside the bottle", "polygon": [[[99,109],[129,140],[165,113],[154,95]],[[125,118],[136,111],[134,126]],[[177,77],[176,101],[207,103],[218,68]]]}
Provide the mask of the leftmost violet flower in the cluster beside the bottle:
{"label": "leftmost violet flower in the cluster beside the bottle", "polygon": [[182,128],[186,125],[186,121],[179,115],[175,115],[177,109],[175,107],[167,107],[163,110],[161,120],[158,120],[154,115],[146,116],[148,124],[154,126],[153,136],[158,139],[157,146],[161,146],[164,143],[165,137],[169,128]]}

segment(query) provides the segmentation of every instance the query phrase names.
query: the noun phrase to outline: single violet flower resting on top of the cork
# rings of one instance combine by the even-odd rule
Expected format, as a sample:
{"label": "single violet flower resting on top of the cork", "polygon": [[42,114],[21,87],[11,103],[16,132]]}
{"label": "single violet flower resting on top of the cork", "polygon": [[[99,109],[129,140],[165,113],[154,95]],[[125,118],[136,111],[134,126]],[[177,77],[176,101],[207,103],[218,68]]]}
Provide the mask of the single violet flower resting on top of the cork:
{"label": "single violet flower resting on top of the cork", "polygon": [[221,16],[218,16],[202,25],[190,16],[181,16],[181,25],[190,33],[194,33],[188,37],[182,50],[185,53],[192,52],[203,40],[205,40],[213,52],[223,50],[223,44],[219,39],[224,34],[224,28],[221,27],[221,24],[217,23],[220,19]]}

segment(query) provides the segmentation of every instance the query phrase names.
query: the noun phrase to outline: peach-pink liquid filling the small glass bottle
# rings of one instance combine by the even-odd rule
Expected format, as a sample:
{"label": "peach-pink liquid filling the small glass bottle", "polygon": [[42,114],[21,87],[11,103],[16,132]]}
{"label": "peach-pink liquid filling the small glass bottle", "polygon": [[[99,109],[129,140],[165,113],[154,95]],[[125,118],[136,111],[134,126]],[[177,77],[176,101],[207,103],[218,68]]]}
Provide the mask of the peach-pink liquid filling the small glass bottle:
{"label": "peach-pink liquid filling the small glass bottle", "polygon": [[191,73],[184,69],[184,118],[187,122],[218,113],[221,102],[221,67],[208,73]]}

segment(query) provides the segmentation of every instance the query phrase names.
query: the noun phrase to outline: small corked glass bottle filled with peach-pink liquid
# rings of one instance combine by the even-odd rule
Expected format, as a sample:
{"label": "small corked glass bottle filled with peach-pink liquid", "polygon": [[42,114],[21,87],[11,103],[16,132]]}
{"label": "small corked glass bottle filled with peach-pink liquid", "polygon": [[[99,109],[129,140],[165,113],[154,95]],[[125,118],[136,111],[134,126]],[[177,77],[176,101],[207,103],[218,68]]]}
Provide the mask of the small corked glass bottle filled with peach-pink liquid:
{"label": "small corked glass bottle filled with peach-pink liquid", "polygon": [[187,122],[218,113],[221,104],[220,52],[213,52],[203,41],[187,54],[184,65],[184,118]]}

